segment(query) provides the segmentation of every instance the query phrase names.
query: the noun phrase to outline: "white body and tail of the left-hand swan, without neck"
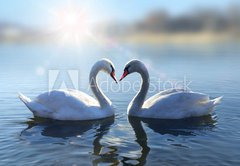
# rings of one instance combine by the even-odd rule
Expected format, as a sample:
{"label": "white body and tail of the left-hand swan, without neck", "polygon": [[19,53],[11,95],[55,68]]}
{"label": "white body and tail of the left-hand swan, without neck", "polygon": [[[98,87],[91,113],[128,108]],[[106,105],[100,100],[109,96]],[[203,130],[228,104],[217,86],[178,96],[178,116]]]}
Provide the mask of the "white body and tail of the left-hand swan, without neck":
{"label": "white body and tail of the left-hand swan, without neck", "polygon": [[39,117],[85,120],[103,116],[99,111],[98,101],[77,90],[53,90],[42,93],[34,100],[19,93],[19,98]]}

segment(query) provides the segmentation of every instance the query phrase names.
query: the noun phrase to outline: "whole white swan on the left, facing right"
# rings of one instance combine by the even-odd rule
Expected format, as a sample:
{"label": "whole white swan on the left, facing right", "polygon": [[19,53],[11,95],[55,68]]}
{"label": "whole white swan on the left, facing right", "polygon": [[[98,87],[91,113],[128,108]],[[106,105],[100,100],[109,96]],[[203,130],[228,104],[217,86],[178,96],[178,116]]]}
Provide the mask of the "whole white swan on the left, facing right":
{"label": "whole white swan on the left, facing right", "polygon": [[[77,90],[53,90],[39,95],[35,100],[19,94],[21,101],[34,116],[57,120],[93,120],[114,115],[110,100],[99,89],[96,77],[104,71],[116,81],[115,69],[110,60],[102,59],[94,64],[89,76],[93,97]],[[117,82],[117,81],[116,81]]]}

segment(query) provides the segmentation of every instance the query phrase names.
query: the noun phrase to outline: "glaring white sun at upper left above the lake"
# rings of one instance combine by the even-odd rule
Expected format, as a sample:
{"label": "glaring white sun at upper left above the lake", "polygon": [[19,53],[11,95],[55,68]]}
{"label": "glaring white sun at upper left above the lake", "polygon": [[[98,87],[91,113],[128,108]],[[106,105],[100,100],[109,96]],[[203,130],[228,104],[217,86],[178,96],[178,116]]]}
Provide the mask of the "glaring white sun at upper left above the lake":
{"label": "glaring white sun at upper left above the lake", "polygon": [[79,44],[93,38],[93,20],[86,9],[71,5],[52,13],[52,27],[59,42]]}

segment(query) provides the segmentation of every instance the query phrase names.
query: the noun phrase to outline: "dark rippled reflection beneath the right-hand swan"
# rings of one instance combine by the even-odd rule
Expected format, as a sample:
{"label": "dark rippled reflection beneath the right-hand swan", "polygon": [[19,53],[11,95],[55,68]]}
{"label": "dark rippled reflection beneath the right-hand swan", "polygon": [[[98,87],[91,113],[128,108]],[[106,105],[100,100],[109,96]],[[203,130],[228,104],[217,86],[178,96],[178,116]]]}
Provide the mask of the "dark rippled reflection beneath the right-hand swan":
{"label": "dark rippled reflection beneath the right-hand swan", "polygon": [[[145,132],[142,123],[155,133],[161,135],[169,134],[172,136],[196,136],[200,131],[212,130],[216,124],[215,118],[210,115],[178,120],[128,117],[128,121],[135,132],[135,141],[141,146],[141,155],[136,159],[138,165],[146,164],[147,156],[151,150],[150,145],[148,145],[148,135]],[[133,159],[125,157],[122,162],[127,163],[128,160],[132,161]]]}

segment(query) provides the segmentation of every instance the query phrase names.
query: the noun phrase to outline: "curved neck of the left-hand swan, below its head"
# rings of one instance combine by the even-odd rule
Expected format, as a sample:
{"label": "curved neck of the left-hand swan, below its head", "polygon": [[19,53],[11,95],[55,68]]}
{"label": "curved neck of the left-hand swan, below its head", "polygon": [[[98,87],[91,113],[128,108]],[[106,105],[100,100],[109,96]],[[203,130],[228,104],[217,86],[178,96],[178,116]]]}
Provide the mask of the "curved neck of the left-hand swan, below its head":
{"label": "curved neck of the left-hand swan, below its head", "polygon": [[103,68],[104,68],[103,66],[95,64],[92,67],[92,70],[89,75],[89,84],[90,84],[91,90],[94,96],[96,97],[96,99],[98,100],[101,108],[105,108],[107,106],[110,106],[111,104],[110,100],[103,94],[102,90],[99,89],[98,83],[96,80],[97,74],[99,73],[99,71],[103,70]]}

